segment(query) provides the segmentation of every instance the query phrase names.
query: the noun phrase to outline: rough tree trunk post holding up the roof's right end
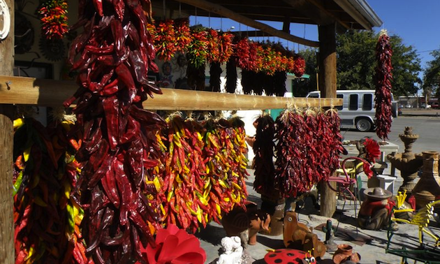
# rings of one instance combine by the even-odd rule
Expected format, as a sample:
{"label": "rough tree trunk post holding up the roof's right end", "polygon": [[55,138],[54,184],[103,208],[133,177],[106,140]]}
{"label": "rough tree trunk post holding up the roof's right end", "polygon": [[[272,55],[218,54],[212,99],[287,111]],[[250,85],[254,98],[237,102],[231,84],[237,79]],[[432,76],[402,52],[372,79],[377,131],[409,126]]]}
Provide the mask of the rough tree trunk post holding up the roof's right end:
{"label": "rough tree trunk post holding up the roof's right end", "polygon": [[[321,97],[336,98],[336,30],[335,24],[318,27],[319,89]],[[332,183],[334,184],[334,183]],[[321,215],[332,217],[336,210],[336,193],[327,182],[321,182]]]}

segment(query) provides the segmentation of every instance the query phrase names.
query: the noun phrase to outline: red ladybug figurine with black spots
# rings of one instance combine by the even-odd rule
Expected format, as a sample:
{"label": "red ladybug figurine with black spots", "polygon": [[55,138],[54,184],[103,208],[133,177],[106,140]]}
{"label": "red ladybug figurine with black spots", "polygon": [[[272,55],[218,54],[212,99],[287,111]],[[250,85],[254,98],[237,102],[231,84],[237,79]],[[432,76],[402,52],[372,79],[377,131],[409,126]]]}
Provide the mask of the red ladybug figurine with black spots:
{"label": "red ladybug figurine with black spots", "polygon": [[264,256],[267,264],[317,264],[316,258],[311,254],[298,249],[276,249]]}

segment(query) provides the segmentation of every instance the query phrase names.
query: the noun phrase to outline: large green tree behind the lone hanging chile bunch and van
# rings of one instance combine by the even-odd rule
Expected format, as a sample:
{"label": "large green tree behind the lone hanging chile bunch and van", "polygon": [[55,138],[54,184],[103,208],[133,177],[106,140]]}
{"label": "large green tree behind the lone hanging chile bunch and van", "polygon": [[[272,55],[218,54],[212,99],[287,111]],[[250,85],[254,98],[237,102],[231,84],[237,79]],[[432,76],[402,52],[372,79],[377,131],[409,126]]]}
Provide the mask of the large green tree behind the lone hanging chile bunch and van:
{"label": "large green tree behind the lone hanging chile bunch and van", "polygon": [[[374,67],[377,64],[375,47],[378,39],[379,34],[373,31],[353,30],[337,35],[337,89],[376,89]],[[415,94],[418,90],[415,84],[421,82],[418,78],[421,71],[420,58],[416,50],[411,45],[404,45],[399,36],[390,36],[390,43],[393,48],[393,94],[396,97]],[[306,73],[311,78],[294,87],[294,93],[295,89],[299,93],[295,96],[302,96],[303,91],[316,90],[315,50],[307,49],[300,54],[305,58]]]}

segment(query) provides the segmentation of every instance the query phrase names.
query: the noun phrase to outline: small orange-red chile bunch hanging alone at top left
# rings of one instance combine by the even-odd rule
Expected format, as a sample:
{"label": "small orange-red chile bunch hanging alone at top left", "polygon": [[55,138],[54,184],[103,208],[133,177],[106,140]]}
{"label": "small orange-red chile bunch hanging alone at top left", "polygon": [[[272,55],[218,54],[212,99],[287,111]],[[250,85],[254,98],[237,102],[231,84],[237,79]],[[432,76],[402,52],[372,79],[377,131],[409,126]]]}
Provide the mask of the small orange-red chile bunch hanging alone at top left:
{"label": "small orange-red chile bunch hanging alone at top left", "polygon": [[48,0],[38,10],[41,32],[46,38],[60,39],[68,32],[67,1]]}

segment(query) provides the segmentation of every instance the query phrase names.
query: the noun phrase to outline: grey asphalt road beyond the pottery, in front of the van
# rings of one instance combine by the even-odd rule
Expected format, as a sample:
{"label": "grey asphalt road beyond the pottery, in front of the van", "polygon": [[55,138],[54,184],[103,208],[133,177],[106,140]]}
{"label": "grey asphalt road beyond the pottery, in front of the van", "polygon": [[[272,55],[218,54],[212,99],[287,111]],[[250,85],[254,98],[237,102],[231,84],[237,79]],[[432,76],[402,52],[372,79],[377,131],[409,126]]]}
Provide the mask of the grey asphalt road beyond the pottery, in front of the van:
{"label": "grey asphalt road beyond the pottery, in front of the van", "polygon": [[[404,115],[393,119],[387,141],[399,145],[399,152],[404,152],[404,144],[400,140],[399,134],[404,133],[406,126],[412,126],[413,133],[419,135],[418,140],[413,144],[413,153],[427,150],[440,152],[440,116]],[[379,140],[374,131],[360,132],[356,129],[342,129],[341,134],[344,140],[359,140],[366,136]]]}

